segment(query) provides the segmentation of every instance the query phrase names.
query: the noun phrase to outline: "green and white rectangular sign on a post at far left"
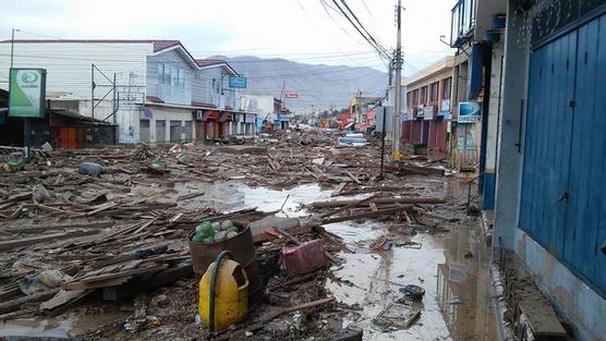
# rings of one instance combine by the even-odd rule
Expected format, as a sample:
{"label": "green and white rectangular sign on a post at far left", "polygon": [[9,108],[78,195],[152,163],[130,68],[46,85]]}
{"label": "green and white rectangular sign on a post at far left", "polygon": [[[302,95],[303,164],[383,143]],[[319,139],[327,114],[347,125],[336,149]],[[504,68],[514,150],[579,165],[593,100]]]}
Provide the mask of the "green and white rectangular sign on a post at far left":
{"label": "green and white rectangular sign on a post at far left", "polygon": [[11,69],[9,117],[44,118],[46,70]]}

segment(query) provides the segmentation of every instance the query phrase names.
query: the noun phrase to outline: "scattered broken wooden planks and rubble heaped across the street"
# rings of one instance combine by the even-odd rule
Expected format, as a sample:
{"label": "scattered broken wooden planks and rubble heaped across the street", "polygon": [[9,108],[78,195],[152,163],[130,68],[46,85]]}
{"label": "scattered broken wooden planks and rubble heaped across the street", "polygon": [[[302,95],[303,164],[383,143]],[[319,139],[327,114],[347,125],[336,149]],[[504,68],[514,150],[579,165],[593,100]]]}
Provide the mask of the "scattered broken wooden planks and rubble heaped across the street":
{"label": "scattered broken wooden planks and rubble heaped across the street", "polygon": [[[323,226],[376,219],[395,229],[372,249],[422,247],[410,235],[445,231],[451,218],[432,207],[446,200],[432,188],[402,185],[399,179],[441,176],[444,169],[409,160],[401,167],[388,165],[386,180],[377,182],[376,141],[343,147],[322,131],[237,143],[45,148],[34,153],[31,163],[1,168],[0,319],[16,313],[56,316],[87,306],[94,297],[117,304],[135,299],[130,318],[110,328],[98,326],[86,338],[120,339],[126,338],[118,337],[121,332],[153,329],[153,338],[165,339],[165,326],[171,324],[186,325],[183,330],[204,337],[206,329],[195,324],[199,273],[193,271],[189,242],[226,242],[242,232],[237,227],[249,227],[265,300],[251,307],[244,322],[216,339],[254,339],[264,332],[274,338],[361,339],[361,331],[331,329],[318,320],[319,314],[311,315],[342,312],[324,282],[329,266],[340,263],[337,254],[348,246]],[[5,159],[0,156],[0,163],[14,162],[17,154],[14,149]],[[334,197],[350,197],[310,203],[303,207],[308,215],[296,218],[254,207],[218,211],[206,205],[205,185],[229,181],[271,188],[318,183],[331,187]],[[162,292],[152,300],[141,299],[158,290]],[[162,312],[175,302],[179,312]],[[393,307],[396,303],[377,320],[389,319]],[[419,314],[405,312],[404,327]]]}

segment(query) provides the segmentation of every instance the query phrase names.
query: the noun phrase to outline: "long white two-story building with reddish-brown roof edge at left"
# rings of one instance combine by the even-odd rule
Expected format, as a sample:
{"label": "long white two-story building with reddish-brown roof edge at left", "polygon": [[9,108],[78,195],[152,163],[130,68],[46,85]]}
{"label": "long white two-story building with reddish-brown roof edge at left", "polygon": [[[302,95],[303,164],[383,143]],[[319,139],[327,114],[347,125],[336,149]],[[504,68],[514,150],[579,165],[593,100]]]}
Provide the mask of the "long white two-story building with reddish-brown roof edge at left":
{"label": "long white two-story building with reddish-brown roof edge at left", "polygon": [[[5,73],[10,53],[0,41]],[[121,143],[222,138],[239,108],[238,73],[179,40],[14,40],[13,68],[46,69],[47,92],[61,94],[51,106],[118,124]]]}

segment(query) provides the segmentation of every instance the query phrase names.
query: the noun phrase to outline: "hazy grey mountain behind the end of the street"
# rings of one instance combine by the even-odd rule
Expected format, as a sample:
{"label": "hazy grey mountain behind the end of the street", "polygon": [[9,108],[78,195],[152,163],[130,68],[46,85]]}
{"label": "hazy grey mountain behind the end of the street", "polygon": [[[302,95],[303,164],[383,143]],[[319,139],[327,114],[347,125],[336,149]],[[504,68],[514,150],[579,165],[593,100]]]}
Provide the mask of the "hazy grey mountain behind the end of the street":
{"label": "hazy grey mountain behind the end of the street", "polygon": [[[298,98],[286,98],[286,107],[300,113],[312,106],[322,110],[348,108],[349,100],[362,96],[383,96],[387,88],[387,73],[366,66],[307,64],[280,58],[223,57],[238,73],[246,77],[241,94],[274,95],[296,93]],[[284,96],[282,95],[282,98]]]}

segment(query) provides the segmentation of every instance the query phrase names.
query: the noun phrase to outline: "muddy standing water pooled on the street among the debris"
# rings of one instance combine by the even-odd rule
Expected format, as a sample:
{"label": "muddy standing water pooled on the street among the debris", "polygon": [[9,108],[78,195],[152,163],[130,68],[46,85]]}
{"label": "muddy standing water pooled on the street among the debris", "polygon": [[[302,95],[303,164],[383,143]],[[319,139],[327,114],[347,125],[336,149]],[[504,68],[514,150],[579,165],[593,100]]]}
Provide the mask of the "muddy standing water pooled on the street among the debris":
{"label": "muddy standing water pooled on the street among the debris", "polygon": [[[341,236],[353,252],[339,254],[344,263],[332,267],[331,279],[326,282],[326,288],[338,302],[356,307],[343,318],[343,327],[363,329],[365,340],[495,340],[487,267],[489,252],[483,246],[480,220],[464,217],[466,185],[461,185],[457,179],[445,181],[412,176],[403,181],[407,185],[429,191],[427,194],[446,195],[450,210],[455,209],[458,215],[456,218],[461,220],[444,226],[449,232],[419,233],[413,236],[412,241],[421,244],[421,248],[393,245],[381,252],[372,252],[368,246],[383,234],[397,235],[399,232],[395,227],[377,221],[326,226],[327,231]],[[187,209],[214,207],[218,210],[237,210],[257,207],[264,211],[274,211],[282,208],[278,216],[288,217],[306,215],[300,208],[301,204],[330,199],[332,191],[323,190],[317,184],[290,190],[252,188],[237,181],[197,186],[178,183],[175,190],[179,194],[205,192],[203,196],[181,204]],[[448,215],[447,209],[444,215]],[[421,309],[421,317],[409,329],[375,324],[373,319],[384,308],[403,297],[400,289],[407,284],[416,284],[426,291],[422,303],[411,306]],[[89,318],[80,318],[0,322],[0,337],[73,336],[95,325],[89,321]]]}

